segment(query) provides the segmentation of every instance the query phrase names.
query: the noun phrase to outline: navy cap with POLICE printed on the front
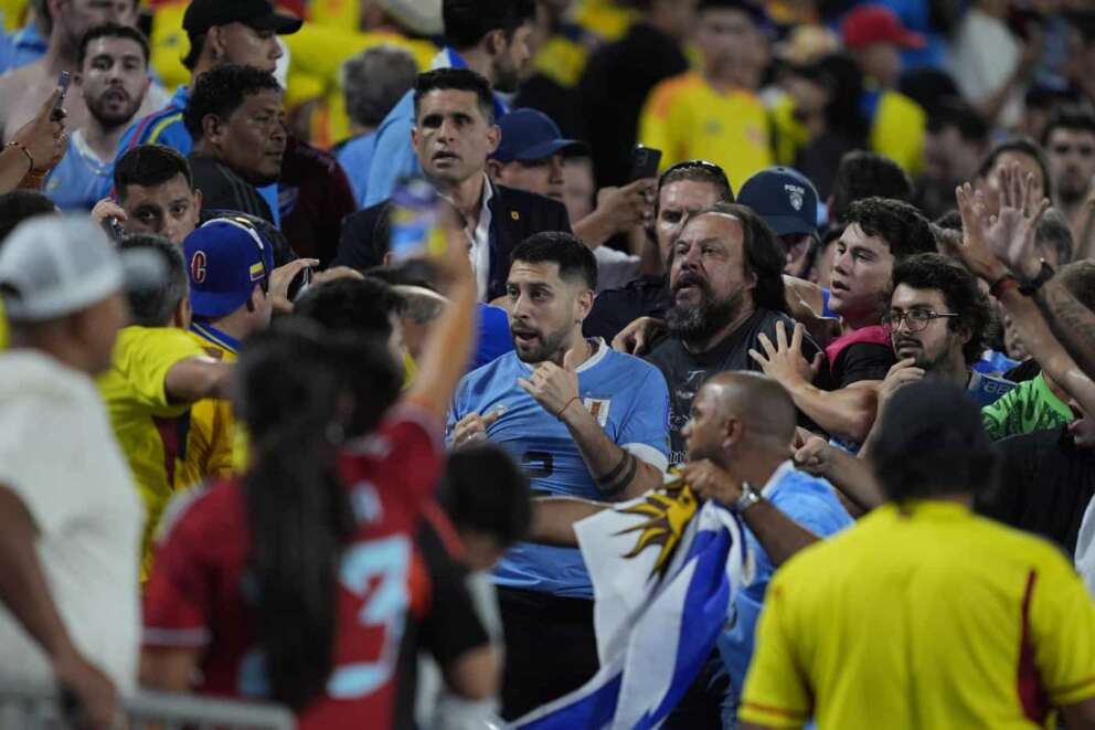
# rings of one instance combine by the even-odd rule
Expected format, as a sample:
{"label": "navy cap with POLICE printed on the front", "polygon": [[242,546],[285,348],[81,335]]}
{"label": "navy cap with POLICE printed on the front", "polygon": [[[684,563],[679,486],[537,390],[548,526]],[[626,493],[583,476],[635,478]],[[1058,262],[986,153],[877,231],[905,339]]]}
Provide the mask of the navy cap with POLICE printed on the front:
{"label": "navy cap with POLICE printed on the front", "polygon": [[761,170],[737,191],[737,202],[752,208],[776,235],[817,233],[818,191],[798,170]]}

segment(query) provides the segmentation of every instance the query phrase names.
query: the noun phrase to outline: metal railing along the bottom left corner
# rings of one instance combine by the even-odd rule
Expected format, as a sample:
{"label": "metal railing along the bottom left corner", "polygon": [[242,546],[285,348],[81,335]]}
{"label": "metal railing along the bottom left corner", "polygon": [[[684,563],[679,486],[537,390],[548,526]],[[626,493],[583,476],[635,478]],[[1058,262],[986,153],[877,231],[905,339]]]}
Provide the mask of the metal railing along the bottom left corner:
{"label": "metal railing along the bottom left corner", "polygon": [[[0,730],[67,730],[61,694],[51,685],[0,677]],[[117,728],[140,730],[295,730],[279,705],[214,699],[199,695],[138,691],[120,699]]]}

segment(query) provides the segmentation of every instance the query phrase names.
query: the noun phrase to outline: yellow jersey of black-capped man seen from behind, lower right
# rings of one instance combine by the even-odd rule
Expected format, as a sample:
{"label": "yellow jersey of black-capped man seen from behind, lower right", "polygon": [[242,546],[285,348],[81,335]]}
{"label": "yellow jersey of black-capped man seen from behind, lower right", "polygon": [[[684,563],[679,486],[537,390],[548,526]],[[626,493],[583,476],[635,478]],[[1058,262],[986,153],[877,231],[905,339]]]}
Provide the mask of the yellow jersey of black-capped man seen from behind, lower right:
{"label": "yellow jersey of black-capped man seen from behind, lower right", "polygon": [[1095,605],[1059,549],[957,502],[881,507],[768,586],[738,718],[1045,727],[1095,696]]}

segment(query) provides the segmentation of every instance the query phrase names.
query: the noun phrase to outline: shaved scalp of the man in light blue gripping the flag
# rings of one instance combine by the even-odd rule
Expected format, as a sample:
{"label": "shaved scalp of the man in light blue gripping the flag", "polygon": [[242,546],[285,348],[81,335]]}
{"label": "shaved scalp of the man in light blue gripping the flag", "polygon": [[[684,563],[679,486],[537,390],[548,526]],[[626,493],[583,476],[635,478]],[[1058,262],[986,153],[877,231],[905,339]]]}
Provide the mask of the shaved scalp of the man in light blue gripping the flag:
{"label": "shaved scalp of the man in light blue gripping the flag", "polygon": [[786,446],[795,437],[795,403],[772,378],[758,372],[721,372],[703,388],[710,389],[720,415],[743,423],[746,438]]}

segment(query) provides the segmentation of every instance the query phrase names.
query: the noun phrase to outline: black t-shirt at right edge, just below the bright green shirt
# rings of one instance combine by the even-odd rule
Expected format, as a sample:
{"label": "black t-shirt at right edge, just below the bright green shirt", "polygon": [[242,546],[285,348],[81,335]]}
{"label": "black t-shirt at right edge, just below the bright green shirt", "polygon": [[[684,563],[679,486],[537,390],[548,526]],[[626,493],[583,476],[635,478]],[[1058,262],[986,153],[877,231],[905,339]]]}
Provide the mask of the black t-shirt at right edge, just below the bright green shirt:
{"label": "black t-shirt at right edge, just below the bright green shirt", "polygon": [[999,487],[977,511],[1076,551],[1080,522],[1095,495],[1095,451],[1076,448],[1067,429],[1035,431],[996,443],[1003,456]]}

